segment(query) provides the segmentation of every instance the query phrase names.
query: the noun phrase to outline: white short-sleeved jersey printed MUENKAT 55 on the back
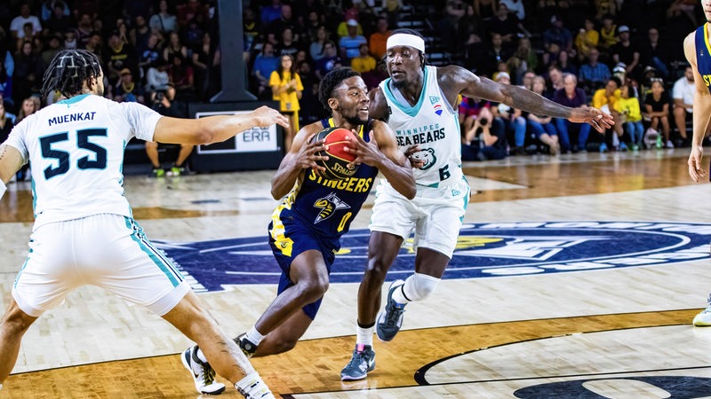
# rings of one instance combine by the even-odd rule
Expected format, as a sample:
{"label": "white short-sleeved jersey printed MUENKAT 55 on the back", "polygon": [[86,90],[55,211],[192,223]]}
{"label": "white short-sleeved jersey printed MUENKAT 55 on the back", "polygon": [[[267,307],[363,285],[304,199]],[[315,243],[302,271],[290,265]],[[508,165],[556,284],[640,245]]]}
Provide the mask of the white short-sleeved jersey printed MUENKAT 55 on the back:
{"label": "white short-sleeved jersey printed MUENKAT 55 on the back", "polygon": [[124,197],[124,150],[153,140],[159,113],[136,103],[84,94],[22,120],[5,144],[32,168],[35,229],[89,215],[131,216]]}

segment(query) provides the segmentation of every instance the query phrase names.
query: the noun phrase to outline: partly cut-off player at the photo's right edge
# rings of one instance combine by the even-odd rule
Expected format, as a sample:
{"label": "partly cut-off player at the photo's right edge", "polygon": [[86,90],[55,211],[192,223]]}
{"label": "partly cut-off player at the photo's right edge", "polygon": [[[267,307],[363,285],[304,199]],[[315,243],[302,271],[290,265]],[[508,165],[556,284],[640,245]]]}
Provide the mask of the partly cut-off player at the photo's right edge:
{"label": "partly cut-off player at the photo's right edge", "polygon": [[[711,22],[711,2],[701,2],[704,8],[704,15],[708,22]],[[699,178],[706,176],[707,171],[701,166],[701,158],[704,156],[704,137],[708,130],[708,121],[711,119],[711,87],[709,87],[708,76],[711,76],[711,50],[708,48],[709,24],[706,23],[696,31],[691,32],[683,40],[683,52],[686,59],[691,64],[694,71],[694,108],[693,108],[693,137],[691,138],[691,154],[689,155],[689,175],[694,182],[699,182]],[[694,325],[699,327],[711,326],[711,295],[708,297],[707,308],[696,315],[693,320]]]}

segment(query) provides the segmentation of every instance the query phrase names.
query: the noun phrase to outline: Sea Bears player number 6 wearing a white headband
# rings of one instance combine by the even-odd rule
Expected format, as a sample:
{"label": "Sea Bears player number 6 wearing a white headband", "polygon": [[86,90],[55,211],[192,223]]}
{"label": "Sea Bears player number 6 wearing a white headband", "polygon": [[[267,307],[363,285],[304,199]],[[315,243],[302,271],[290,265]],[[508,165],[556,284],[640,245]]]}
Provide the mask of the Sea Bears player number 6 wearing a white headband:
{"label": "Sea Bears player number 6 wearing a white headband", "polygon": [[[531,90],[480,78],[460,66],[425,66],[425,42],[411,29],[397,29],[387,39],[387,72],[378,90],[371,90],[371,118],[387,121],[401,148],[419,145],[411,155],[424,160],[415,169],[417,195],[407,200],[390,184],[378,187],[372,209],[368,265],[358,289],[356,349],[341,371],[341,379],[366,377],[375,367],[372,333],[392,340],[403,323],[405,305],[423,301],[435,291],[457,244],[459,227],[469,200],[469,187],[461,170],[458,113],[459,94],[507,106],[587,122],[603,131],[613,124],[610,115],[595,108],[560,106]],[[387,292],[385,309],[380,289],[395,261],[403,239],[414,231],[415,272],[397,280]]]}

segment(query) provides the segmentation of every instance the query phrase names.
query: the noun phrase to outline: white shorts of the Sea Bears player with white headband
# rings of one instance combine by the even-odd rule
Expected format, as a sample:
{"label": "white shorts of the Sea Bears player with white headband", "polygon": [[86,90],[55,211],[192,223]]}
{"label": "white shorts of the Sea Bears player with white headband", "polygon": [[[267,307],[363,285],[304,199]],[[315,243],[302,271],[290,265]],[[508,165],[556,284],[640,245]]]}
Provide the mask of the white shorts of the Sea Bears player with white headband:
{"label": "white shorts of the Sea Bears player with white headband", "polygon": [[414,232],[415,249],[432,249],[451,259],[468,203],[469,184],[463,176],[437,187],[418,185],[412,200],[381,180],[369,227],[371,231],[387,232],[403,239]]}

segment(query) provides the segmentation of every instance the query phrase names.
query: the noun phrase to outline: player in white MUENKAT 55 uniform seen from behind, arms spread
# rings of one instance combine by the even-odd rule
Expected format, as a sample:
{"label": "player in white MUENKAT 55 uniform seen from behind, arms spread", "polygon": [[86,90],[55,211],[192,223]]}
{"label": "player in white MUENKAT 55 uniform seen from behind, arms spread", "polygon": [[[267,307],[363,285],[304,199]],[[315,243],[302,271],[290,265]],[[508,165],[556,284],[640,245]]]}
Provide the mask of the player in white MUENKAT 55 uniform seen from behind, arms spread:
{"label": "player in white MUENKAT 55 uniform seen from behind, arms spread", "polygon": [[0,196],[4,183],[29,161],[36,201],[28,258],[0,321],[0,384],[12,372],[20,340],[37,317],[77,286],[93,285],[145,306],[200,344],[206,359],[192,353],[182,359],[200,376],[200,392],[225,389],[214,382],[209,359],[245,397],[273,398],[180,272],[132,219],[121,168],[132,137],[197,145],[257,126],[288,126],[288,121],[267,107],[195,120],[163,117],[146,106],[101,97],[103,78],[92,52],[60,51],[44,74],[42,94],[56,90],[65,99],[23,120],[0,145]]}

